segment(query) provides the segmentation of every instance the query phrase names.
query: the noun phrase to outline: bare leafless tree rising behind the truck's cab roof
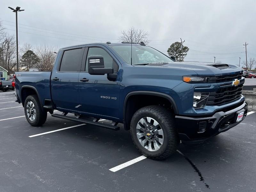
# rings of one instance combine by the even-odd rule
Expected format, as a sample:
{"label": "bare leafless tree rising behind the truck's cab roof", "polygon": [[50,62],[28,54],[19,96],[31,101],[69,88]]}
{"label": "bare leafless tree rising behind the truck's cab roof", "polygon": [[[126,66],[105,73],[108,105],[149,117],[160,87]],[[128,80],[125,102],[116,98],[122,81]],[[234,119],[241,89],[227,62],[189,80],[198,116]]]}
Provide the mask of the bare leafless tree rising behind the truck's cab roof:
{"label": "bare leafless tree rising behind the truck's cab roof", "polygon": [[119,37],[120,42],[132,42],[132,43],[140,43],[141,41],[145,44],[149,44],[148,40],[148,32],[142,29],[135,29],[131,27],[128,30],[122,31],[122,36]]}

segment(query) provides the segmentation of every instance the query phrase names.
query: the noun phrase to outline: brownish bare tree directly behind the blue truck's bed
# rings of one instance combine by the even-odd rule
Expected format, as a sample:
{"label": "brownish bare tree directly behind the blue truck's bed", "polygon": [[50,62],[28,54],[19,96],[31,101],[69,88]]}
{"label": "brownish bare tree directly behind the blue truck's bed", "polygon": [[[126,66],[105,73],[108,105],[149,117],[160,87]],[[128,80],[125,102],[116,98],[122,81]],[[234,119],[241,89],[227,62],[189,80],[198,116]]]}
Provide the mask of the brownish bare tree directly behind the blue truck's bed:
{"label": "brownish bare tree directly behind the blue truck's bed", "polygon": [[53,46],[40,46],[36,48],[36,54],[39,59],[39,62],[36,63],[36,68],[40,71],[52,70],[56,54],[54,53],[57,50]]}

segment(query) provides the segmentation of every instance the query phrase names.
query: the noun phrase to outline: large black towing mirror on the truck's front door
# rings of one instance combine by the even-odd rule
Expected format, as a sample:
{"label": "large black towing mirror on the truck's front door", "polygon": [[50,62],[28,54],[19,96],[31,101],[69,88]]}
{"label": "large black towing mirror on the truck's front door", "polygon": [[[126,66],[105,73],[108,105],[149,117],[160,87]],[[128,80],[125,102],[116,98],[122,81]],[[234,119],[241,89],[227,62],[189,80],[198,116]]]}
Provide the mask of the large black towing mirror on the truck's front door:
{"label": "large black towing mirror on the truck's front door", "polygon": [[104,59],[101,55],[88,57],[88,73],[90,75],[104,75],[114,73],[111,67],[104,68]]}

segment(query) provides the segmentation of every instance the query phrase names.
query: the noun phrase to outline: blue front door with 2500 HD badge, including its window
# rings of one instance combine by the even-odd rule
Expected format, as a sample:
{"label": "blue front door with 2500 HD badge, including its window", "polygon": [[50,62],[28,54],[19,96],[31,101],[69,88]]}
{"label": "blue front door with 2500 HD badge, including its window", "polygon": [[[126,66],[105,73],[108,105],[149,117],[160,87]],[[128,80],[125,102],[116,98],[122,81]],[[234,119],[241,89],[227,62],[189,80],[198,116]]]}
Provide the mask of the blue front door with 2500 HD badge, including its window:
{"label": "blue front door with 2500 HD badge, including its window", "polygon": [[[81,106],[78,109],[92,116],[100,115],[108,119],[111,119],[109,117],[119,118],[121,71],[120,73],[118,71],[122,69],[121,65],[120,63],[118,65],[118,60],[104,46],[91,46],[88,48],[87,57],[86,55],[84,56],[79,75],[79,81],[84,78],[88,81],[79,82]],[[116,80],[109,80],[107,74],[90,75],[88,73],[88,57],[97,55],[103,56],[105,68],[112,67],[114,69],[114,73],[117,73]],[[85,69],[83,67],[84,64]]]}

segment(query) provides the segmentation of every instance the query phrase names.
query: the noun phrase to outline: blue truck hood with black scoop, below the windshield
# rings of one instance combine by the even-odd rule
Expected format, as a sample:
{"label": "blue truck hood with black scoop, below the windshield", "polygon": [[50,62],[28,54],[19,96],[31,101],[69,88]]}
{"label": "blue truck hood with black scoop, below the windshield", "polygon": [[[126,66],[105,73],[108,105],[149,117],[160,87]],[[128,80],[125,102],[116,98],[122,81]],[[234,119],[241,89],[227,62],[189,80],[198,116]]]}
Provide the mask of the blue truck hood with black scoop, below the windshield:
{"label": "blue truck hood with black scoop, below the windshield", "polygon": [[236,65],[207,62],[170,62],[163,63],[162,65],[152,63],[147,66],[161,66],[167,68],[193,70],[198,76],[221,76],[243,71]]}

